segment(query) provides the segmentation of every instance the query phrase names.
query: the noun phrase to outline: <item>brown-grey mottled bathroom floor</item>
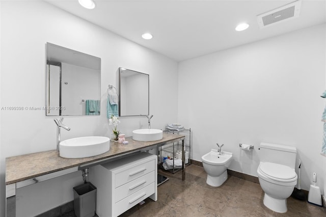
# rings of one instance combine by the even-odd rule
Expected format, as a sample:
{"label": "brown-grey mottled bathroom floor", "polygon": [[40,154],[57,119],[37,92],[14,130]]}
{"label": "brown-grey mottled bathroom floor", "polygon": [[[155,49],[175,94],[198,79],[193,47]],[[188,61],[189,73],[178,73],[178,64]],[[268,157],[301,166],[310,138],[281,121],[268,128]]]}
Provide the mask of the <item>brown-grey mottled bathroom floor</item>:
{"label": "brown-grey mottled bathroom floor", "polygon": [[[264,193],[259,184],[229,176],[220,187],[206,184],[204,168],[196,165],[186,167],[186,180],[181,172],[172,174],[159,171],[169,180],[158,186],[158,200],[146,199],[145,204],[136,205],[120,215],[124,216],[326,216],[322,207],[307,201],[287,199],[286,213],[274,212],[263,204]],[[65,217],[75,216],[73,212]],[[103,216],[106,217],[106,216]]]}

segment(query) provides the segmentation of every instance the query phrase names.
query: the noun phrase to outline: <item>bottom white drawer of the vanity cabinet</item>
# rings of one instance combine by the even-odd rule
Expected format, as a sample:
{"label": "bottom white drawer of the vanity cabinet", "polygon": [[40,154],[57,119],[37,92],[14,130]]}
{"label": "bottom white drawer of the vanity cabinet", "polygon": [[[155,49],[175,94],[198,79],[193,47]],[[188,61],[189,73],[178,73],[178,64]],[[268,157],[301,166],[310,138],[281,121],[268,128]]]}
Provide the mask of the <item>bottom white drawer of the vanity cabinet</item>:
{"label": "bottom white drawer of the vanity cabinet", "polygon": [[145,200],[149,196],[155,193],[155,182],[147,185],[146,187],[140,189],[138,192],[129,195],[125,199],[119,201],[114,206],[113,216],[118,216],[130,209],[134,205],[138,204],[142,200]]}

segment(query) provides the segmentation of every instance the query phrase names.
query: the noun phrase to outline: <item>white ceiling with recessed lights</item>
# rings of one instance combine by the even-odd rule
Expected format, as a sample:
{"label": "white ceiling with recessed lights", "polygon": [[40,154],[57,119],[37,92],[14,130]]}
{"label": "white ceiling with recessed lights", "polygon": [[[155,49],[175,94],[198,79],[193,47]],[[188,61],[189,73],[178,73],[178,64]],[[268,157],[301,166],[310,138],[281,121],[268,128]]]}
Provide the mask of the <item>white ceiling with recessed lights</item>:
{"label": "white ceiling with recessed lights", "polygon": [[[93,10],[77,0],[45,1],[178,62],[326,22],[325,0],[302,0],[300,17],[264,29],[256,15],[294,0],[95,0]],[[240,22],[249,29],[236,32]]]}

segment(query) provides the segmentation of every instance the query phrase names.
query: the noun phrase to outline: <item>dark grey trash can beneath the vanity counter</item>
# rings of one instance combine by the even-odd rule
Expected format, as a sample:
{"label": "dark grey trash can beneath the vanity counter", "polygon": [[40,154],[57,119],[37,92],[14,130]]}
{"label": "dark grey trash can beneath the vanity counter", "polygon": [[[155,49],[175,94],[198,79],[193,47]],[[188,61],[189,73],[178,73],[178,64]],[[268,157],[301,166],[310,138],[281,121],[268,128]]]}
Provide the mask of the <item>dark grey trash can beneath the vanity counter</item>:
{"label": "dark grey trash can beneath the vanity counter", "polygon": [[93,217],[95,215],[96,191],[96,187],[91,182],[73,187],[73,203],[77,217]]}

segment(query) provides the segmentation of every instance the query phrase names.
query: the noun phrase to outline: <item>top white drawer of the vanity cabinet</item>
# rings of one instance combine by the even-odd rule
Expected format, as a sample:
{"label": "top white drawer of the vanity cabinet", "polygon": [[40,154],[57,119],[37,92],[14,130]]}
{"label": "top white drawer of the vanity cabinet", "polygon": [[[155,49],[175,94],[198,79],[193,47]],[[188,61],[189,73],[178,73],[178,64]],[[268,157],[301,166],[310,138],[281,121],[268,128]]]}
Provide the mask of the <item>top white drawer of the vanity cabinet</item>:
{"label": "top white drawer of the vanity cabinet", "polygon": [[155,159],[152,159],[147,162],[143,162],[140,165],[118,172],[115,174],[115,187],[119,187],[154,170]]}

